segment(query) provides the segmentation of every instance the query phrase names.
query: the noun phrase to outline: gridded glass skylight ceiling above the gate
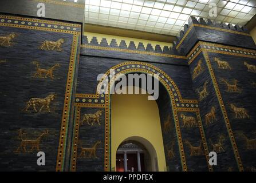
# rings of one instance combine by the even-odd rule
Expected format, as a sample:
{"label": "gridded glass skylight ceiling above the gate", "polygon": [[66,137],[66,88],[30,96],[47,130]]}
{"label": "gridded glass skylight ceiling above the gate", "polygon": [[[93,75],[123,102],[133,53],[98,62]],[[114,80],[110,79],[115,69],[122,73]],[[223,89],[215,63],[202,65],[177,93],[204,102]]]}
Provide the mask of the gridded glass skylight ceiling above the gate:
{"label": "gridded glass skylight ceiling above the gate", "polygon": [[255,14],[256,0],[85,0],[85,23],[167,35],[179,35],[191,15],[243,26]]}

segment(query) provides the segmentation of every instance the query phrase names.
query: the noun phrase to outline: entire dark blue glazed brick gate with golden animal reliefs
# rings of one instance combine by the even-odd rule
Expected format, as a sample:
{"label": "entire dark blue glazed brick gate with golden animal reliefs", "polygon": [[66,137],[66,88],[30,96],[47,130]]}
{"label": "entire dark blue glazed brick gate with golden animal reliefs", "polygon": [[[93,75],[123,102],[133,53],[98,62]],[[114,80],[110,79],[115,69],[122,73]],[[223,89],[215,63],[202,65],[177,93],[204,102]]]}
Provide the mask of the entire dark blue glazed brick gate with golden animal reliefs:
{"label": "entire dark blue glazed brick gate with golden animal reliefs", "polygon": [[[245,28],[191,17],[172,46],[81,32],[81,23],[0,15],[0,170],[114,170],[122,117],[112,116],[115,96],[99,93],[115,82],[110,69],[159,75],[159,170],[254,168],[256,46]],[[208,164],[212,150],[219,166]]]}

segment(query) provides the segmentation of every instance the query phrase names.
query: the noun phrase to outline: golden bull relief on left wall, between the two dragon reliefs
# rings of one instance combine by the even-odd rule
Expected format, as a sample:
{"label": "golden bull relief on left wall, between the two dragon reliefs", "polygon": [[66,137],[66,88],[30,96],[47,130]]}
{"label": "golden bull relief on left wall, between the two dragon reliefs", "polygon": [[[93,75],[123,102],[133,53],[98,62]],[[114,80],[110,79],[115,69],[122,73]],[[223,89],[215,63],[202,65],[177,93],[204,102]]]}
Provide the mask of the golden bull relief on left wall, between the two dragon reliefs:
{"label": "golden bull relief on left wall, between the two dragon reliefs", "polygon": [[[27,102],[27,106],[25,108],[25,112],[28,112],[30,108],[34,109],[34,112],[42,112],[42,109],[48,110],[50,112],[50,104],[56,97],[56,94],[49,94],[45,98],[31,98],[29,102]],[[40,108],[39,111],[37,108]]]}

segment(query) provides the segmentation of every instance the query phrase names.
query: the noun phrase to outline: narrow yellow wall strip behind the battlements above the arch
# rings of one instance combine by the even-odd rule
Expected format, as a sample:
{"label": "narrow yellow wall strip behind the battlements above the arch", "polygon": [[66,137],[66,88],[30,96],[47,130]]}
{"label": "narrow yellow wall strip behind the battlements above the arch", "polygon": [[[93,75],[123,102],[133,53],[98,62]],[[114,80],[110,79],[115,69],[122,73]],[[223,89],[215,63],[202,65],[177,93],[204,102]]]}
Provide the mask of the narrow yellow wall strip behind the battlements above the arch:
{"label": "narrow yellow wall strip behind the battlements above the arch", "polygon": [[153,49],[155,49],[156,45],[160,45],[160,47],[163,49],[164,46],[168,46],[170,48],[170,46],[172,46],[172,43],[167,43],[167,42],[158,42],[158,41],[150,41],[150,40],[146,40],[146,39],[136,39],[136,38],[128,38],[128,37],[120,37],[120,36],[116,36],[116,35],[108,35],[108,34],[97,34],[97,33],[89,33],[89,32],[85,32],[85,34],[88,38],[88,41],[90,42],[92,40],[92,37],[97,37],[98,42],[101,42],[102,38],[106,38],[108,41],[108,44],[111,43],[112,39],[116,39],[116,43],[117,45],[120,45],[121,40],[124,40],[126,42],[126,45],[129,46],[129,43],[131,41],[134,41],[135,46],[137,47],[139,42],[142,42],[144,47],[147,47],[148,43],[151,43]]}

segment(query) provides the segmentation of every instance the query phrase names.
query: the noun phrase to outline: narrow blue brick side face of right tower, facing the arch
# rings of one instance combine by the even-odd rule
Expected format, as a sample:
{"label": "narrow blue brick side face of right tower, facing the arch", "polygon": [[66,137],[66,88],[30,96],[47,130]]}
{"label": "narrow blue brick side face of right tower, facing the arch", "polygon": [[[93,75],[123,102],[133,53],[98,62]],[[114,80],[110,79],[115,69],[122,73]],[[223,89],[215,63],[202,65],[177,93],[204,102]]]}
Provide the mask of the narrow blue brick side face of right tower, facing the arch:
{"label": "narrow blue brick side face of right tower, facing the arch", "polygon": [[[190,64],[191,75],[195,67],[198,65],[199,60],[202,61],[202,72],[193,80],[195,93],[198,95],[199,100],[199,91],[203,90],[204,82],[208,82],[206,85],[206,90],[208,95],[202,101],[199,100],[200,114],[202,118],[204,133],[206,134],[206,140],[210,151],[213,150],[211,141],[213,144],[217,144],[219,136],[224,136],[225,141],[222,142],[222,146],[225,149],[225,152],[217,153],[218,155],[218,166],[213,166],[214,171],[227,171],[231,166],[233,170],[237,169],[237,164],[234,157],[234,152],[229,140],[229,134],[227,133],[227,128],[223,115],[219,106],[218,98],[214,90],[214,86],[206,65],[205,58],[202,53],[200,53],[194,61]],[[207,124],[205,116],[211,111],[212,106],[215,108],[215,117],[216,120],[213,120],[211,124]],[[210,141],[211,140],[211,141]]]}

